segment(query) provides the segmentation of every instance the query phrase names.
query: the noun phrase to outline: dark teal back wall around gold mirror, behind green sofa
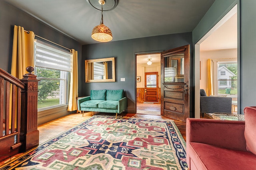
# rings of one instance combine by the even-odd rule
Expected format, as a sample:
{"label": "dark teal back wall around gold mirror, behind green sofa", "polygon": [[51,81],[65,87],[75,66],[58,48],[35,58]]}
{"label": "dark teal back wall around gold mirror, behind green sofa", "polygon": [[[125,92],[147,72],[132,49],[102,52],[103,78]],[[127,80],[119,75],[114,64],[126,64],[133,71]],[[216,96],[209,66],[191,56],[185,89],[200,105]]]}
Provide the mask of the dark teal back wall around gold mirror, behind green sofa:
{"label": "dark teal back wall around gold mirror, behind green sofa", "polygon": [[[115,57],[116,59],[116,82],[85,83],[82,81],[82,96],[90,96],[90,90],[99,89],[124,89],[128,97],[128,112],[135,111],[135,80],[136,80],[136,61],[135,53],[149,51],[165,51],[183,45],[192,45],[192,33],[180,33],[171,35],[161,35],[155,37],[145,37],[129,39],[123,41],[113,41],[108,43],[96,43],[82,46],[82,60],[100,59]],[[192,50],[190,48],[190,53]],[[193,59],[191,55],[191,60]],[[192,62],[191,62],[192,63]],[[192,70],[192,69],[191,69]],[[84,65],[82,67],[84,73]],[[120,78],[125,78],[121,82]],[[193,82],[190,81],[191,86]],[[193,95],[192,95],[193,96]]]}

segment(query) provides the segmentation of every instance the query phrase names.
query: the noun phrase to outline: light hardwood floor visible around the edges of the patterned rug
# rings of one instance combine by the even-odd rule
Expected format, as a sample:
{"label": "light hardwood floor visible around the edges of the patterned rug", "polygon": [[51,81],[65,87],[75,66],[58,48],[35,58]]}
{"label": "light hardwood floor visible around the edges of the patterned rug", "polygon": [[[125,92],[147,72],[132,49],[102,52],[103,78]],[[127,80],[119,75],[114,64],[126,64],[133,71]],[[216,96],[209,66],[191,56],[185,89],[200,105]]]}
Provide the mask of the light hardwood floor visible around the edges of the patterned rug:
{"label": "light hardwood floor visible around the edges of the patterned rug", "polygon": [[[96,113],[96,112],[94,112]],[[98,113],[104,115],[104,113]],[[53,137],[56,137],[60,133],[71,129],[72,127],[82,123],[86,119],[92,117],[93,112],[84,113],[84,117],[80,113],[72,113],[70,115],[66,115],[64,117],[60,117],[53,121],[44,123],[38,126],[39,130],[39,144],[42,144]],[[161,115],[142,115],[142,114],[135,114],[135,113],[122,113],[122,116],[126,117],[139,117],[144,119],[170,119],[168,117],[164,117]],[[180,133],[186,140],[186,123],[174,120],[175,124],[177,125]]]}

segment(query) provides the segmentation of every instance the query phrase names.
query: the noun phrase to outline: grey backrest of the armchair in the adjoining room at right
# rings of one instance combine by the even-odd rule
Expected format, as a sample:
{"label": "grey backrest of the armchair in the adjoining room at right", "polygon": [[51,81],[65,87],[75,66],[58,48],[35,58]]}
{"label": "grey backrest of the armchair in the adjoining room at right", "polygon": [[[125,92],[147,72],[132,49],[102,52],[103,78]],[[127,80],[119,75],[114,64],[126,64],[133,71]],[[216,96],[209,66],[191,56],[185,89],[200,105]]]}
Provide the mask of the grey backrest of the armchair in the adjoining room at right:
{"label": "grey backrest of the armchair in the adjoining room at right", "polygon": [[200,96],[201,113],[231,113],[232,98]]}

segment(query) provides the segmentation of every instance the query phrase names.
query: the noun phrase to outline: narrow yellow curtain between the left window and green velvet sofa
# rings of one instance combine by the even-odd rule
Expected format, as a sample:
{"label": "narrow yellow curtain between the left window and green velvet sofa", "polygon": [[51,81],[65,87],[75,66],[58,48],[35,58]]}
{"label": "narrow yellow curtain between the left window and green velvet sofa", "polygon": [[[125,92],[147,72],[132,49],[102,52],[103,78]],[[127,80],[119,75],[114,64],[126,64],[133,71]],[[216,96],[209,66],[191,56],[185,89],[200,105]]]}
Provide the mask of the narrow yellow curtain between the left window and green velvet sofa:
{"label": "narrow yellow curtain between the left window and green velvet sofa", "polygon": [[68,111],[74,111],[77,109],[76,98],[78,97],[78,61],[77,51],[74,49],[72,52],[72,69],[70,75],[70,90],[68,100]]}

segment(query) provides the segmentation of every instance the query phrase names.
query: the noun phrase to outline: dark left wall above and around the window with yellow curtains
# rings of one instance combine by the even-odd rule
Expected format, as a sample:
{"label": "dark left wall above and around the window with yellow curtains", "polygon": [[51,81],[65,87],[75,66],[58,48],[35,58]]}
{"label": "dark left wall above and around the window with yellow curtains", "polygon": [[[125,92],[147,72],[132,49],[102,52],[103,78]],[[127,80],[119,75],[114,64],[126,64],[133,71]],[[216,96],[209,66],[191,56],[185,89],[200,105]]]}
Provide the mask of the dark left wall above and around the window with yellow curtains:
{"label": "dark left wall above and around the window with yellow curtains", "polygon": [[[32,18],[18,8],[0,0],[0,68],[10,72],[12,61],[12,41],[14,25],[34,31],[36,35],[53,41],[69,49],[78,51],[78,67],[82,67],[82,45],[44,23]],[[81,93],[81,79],[79,79],[79,93]]]}

